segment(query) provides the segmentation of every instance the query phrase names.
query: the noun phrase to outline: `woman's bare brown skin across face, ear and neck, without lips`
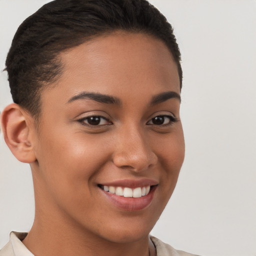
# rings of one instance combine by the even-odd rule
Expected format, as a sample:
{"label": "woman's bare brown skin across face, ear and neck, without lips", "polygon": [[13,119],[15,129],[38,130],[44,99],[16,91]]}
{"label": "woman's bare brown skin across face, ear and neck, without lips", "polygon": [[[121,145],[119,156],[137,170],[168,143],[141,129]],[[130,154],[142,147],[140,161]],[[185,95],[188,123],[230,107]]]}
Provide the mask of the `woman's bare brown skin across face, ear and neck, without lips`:
{"label": "woman's bare brown skin across face, ear and neck, without lips", "polygon": [[[2,114],[5,141],[33,176],[35,219],[22,242],[39,256],[148,255],[148,246],[153,255],[148,234],[184,158],[179,99],[150,104],[160,93],[180,93],[171,53],[149,35],[116,32],[60,57],[63,73],[41,93],[38,128],[16,104]],[[120,104],[75,97],[82,92]],[[89,125],[86,117],[95,115],[103,117],[99,125]],[[165,116],[164,124],[153,123],[155,116]],[[119,208],[98,187],[142,178],[157,186],[140,210]]]}

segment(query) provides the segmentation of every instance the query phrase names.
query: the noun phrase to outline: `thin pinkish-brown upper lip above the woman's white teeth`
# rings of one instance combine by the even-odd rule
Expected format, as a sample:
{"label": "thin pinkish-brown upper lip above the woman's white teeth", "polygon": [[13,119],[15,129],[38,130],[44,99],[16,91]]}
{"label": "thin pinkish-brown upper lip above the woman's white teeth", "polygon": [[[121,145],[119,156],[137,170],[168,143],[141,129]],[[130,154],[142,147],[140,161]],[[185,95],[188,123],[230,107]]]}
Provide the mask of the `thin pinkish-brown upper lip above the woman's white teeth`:
{"label": "thin pinkish-brown upper lip above the woman's white teeth", "polygon": [[148,178],[142,178],[142,179],[119,179],[119,180],[114,180],[110,182],[104,182],[100,183],[100,185],[105,185],[105,186],[122,186],[122,187],[130,187],[130,188],[135,188],[135,187],[142,187],[142,186],[152,186],[152,185],[157,185],[158,182],[153,179],[148,179]]}

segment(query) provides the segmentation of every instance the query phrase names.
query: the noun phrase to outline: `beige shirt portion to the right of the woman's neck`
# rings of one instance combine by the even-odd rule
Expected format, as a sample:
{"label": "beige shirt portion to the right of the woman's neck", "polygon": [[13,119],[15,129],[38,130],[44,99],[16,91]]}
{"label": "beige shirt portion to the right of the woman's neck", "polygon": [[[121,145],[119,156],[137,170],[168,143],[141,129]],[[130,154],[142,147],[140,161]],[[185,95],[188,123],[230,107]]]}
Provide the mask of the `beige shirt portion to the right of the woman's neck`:
{"label": "beige shirt portion to the right of the woman's neck", "polygon": [[182,250],[176,250],[169,244],[162,242],[154,236],[150,236],[150,239],[156,248],[157,256],[198,256]]}

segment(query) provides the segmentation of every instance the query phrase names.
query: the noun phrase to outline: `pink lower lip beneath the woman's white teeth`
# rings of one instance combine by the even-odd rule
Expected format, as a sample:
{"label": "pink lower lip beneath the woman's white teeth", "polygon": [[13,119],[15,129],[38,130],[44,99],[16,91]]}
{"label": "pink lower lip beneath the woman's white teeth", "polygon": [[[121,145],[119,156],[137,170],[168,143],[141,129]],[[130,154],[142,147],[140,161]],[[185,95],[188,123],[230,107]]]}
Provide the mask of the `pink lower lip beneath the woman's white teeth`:
{"label": "pink lower lip beneath the woman's white teeth", "polygon": [[126,211],[136,211],[142,210],[151,204],[156,186],[153,186],[147,195],[138,198],[124,197],[113,193],[109,193],[101,188],[99,189],[107,196],[107,198],[114,205],[118,206],[119,208]]}

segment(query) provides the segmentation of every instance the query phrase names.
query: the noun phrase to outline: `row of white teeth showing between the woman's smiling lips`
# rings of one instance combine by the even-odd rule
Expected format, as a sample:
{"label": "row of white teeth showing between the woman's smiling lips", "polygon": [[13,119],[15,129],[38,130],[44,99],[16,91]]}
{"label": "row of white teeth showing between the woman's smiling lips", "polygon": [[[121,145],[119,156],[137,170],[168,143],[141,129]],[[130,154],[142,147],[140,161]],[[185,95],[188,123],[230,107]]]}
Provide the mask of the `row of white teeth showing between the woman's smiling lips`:
{"label": "row of white teeth showing between the woman's smiling lips", "polygon": [[109,192],[111,194],[123,196],[123,197],[133,197],[139,198],[145,196],[149,193],[150,189],[155,187],[155,185],[139,186],[135,188],[130,187],[121,187],[121,186],[107,186],[107,185],[98,185],[102,190]]}

